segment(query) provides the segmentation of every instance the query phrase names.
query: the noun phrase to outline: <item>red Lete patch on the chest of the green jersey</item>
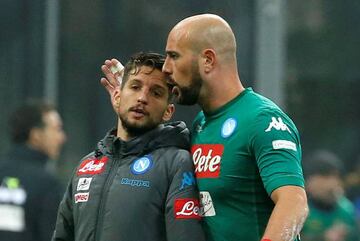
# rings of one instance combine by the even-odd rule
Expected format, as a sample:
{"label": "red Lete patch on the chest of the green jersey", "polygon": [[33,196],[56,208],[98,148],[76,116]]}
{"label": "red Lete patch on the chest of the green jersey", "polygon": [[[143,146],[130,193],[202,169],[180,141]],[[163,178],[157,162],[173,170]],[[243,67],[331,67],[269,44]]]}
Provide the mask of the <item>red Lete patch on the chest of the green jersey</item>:
{"label": "red Lete patch on the chest of the green jersey", "polygon": [[191,147],[197,178],[217,178],[220,175],[221,157],[224,146],[221,144],[199,144]]}

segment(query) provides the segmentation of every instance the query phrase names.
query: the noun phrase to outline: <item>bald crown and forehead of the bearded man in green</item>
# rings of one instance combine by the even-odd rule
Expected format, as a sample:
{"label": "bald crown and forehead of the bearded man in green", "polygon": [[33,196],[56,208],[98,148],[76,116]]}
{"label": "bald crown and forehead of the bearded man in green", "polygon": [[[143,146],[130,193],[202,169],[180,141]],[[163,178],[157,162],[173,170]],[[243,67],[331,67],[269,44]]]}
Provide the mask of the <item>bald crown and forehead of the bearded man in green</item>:
{"label": "bald crown and forehead of the bearded man in green", "polygon": [[214,14],[201,14],[185,18],[170,32],[195,53],[213,49],[219,58],[235,59],[236,41],[229,24]]}

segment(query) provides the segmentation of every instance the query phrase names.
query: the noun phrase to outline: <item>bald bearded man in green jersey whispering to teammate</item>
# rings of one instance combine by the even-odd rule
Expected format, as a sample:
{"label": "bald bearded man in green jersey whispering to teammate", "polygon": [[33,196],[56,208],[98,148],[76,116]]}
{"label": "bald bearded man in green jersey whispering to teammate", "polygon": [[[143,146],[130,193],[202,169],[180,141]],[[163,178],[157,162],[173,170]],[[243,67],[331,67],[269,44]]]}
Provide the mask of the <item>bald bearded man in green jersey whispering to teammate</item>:
{"label": "bald bearded man in green jersey whispering to teammate", "polygon": [[[242,85],[229,24],[213,14],[186,18],[169,33],[166,54],[177,102],[202,108],[191,152],[207,240],[299,240],[308,214],[299,133]],[[114,79],[102,80],[110,94]]]}

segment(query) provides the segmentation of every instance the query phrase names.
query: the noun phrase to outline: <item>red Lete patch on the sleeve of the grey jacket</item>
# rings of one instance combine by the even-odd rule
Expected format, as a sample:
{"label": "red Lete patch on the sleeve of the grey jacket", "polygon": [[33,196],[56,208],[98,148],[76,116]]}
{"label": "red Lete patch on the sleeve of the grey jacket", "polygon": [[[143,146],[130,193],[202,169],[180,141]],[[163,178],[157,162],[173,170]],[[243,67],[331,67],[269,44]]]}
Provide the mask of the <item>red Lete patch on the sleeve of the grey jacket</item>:
{"label": "red Lete patch on the sleeve of the grey jacket", "polygon": [[199,201],[193,198],[175,199],[174,212],[176,219],[200,219]]}

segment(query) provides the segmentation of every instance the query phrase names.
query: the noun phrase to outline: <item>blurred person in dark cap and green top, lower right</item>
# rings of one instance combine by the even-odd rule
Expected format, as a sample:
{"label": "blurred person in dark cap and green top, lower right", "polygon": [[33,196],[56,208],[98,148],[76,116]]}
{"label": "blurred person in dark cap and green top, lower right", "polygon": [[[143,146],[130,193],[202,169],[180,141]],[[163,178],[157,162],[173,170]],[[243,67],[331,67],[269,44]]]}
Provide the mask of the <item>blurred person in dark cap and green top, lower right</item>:
{"label": "blurred person in dark cap and green top, lower right", "polygon": [[304,162],[310,214],[304,241],[359,240],[353,204],[344,195],[342,161],[332,152],[318,150]]}

